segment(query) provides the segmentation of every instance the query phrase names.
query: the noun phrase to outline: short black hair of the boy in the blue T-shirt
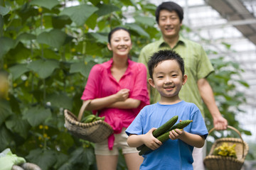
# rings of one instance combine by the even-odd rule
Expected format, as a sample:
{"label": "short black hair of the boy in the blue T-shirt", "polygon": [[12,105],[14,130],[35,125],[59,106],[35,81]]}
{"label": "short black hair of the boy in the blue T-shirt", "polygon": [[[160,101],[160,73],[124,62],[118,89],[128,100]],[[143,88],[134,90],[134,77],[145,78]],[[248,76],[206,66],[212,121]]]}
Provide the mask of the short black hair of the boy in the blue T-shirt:
{"label": "short black hair of the boy in the blue T-shirt", "polygon": [[178,66],[181,69],[182,76],[185,74],[184,61],[177,52],[174,52],[173,50],[159,50],[151,56],[148,62],[149,76],[151,79],[153,79],[154,68],[156,68],[159,63],[166,60],[176,60],[178,62]]}

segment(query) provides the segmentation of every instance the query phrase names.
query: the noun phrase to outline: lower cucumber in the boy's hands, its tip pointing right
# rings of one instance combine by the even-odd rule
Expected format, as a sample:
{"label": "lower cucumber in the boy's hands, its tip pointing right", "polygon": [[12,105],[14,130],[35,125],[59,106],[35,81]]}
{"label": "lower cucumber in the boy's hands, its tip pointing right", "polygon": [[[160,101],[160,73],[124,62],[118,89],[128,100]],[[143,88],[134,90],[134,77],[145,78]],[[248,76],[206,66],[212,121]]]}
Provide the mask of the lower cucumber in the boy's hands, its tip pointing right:
{"label": "lower cucumber in the boy's hands, its tip pointing right", "polygon": [[[171,130],[183,129],[187,125],[189,125],[189,123],[191,123],[192,121],[193,120],[182,120],[181,122],[179,122],[176,125],[174,125],[173,127],[171,127],[167,132],[165,132],[164,134],[162,134],[162,135],[160,135],[159,137],[156,137],[156,138],[158,140],[160,140],[162,143],[166,142],[166,140],[169,140],[169,132]],[[142,147],[142,149],[140,150],[139,155],[142,156],[142,154],[149,154],[152,151],[153,150],[151,150],[149,147],[146,147],[146,145],[144,145],[144,147]]]}

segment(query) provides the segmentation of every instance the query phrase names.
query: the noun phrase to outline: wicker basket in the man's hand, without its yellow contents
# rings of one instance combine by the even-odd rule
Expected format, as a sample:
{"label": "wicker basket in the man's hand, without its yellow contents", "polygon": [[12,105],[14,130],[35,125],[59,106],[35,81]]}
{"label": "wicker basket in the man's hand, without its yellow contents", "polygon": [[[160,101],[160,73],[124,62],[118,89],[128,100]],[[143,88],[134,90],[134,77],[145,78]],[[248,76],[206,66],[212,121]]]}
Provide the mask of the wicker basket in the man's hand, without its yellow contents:
{"label": "wicker basket in the man's hand, without its yellow contents", "polygon": [[[242,168],[242,164],[244,164],[245,162],[245,157],[248,153],[249,147],[247,143],[242,140],[242,136],[237,129],[229,125],[228,125],[228,128],[237,132],[238,135],[240,136],[240,139],[233,138],[233,137],[225,137],[225,138],[220,138],[218,140],[215,140],[215,142],[213,143],[213,146],[210,149],[210,153],[203,160],[203,163],[205,164],[206,168],[209,170],[220,170],[220,169],[221,170],[240,170]],[[209,131],[209,135],[210,135],[210,132],[212,132],[213,130],[214,128]],[[223,145],[224,142],[228,143],[228,145],[235,144],[235,152],[236,152],[237,158],[213,155],[213,151],[215,147],[219,147],[220,145]]]}

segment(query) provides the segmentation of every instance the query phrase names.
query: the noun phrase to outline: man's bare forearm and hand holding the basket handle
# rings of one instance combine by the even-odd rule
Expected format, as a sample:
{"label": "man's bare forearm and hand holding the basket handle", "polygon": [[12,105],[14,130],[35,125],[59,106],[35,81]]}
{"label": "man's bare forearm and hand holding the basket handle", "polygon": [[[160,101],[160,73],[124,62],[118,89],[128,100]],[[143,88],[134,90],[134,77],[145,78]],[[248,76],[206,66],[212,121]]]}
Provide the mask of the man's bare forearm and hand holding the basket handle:
{"label": "man's bare forearm and hand holding the basket handle", "polygon": [[216,130],[227,129],[228,121],[220,114],[220,111],[218,110],[218,107],[215,103],[213,89],[210,87],[207,79],[199,79],[197,84],[201,94],[201,98],[206,104],[208,110],[210,111],[210,115],[212,115],[213,117],[214,128]]}

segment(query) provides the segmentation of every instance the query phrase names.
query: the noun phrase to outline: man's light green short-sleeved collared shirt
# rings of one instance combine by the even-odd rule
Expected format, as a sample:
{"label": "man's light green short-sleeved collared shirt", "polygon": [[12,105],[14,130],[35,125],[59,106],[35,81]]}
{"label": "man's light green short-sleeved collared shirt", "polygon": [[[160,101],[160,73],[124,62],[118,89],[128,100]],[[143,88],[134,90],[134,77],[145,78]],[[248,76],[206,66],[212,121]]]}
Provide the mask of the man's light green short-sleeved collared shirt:
{"label": "man's light green short-sleeved collared shirt", "polygon": [[[187,40],[181,37],[181,35],[173,49],[164,42],[164,38],[160,38],[160,40],[151,42],[149,45],[142,48],[138,62],[144,63],[147,67],[147,63],[154,52],[166,49],[177,52],[181,55],[185,63],[185,74],[188,75],[188,80],[181,88],[179,97],[183,101],[195,103],[204,117],[203,101],[198,90],[197,81],[198,79],[208,77],[211,72],[214,72],[213,65],[210,63],[205,50],[203,50],[203,47],[197,42]],[[159,100],[159,92],[156,91],[156,89],[151,89],[151,103],[156,103]]]}

